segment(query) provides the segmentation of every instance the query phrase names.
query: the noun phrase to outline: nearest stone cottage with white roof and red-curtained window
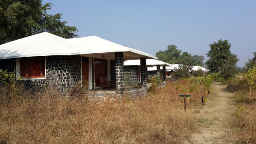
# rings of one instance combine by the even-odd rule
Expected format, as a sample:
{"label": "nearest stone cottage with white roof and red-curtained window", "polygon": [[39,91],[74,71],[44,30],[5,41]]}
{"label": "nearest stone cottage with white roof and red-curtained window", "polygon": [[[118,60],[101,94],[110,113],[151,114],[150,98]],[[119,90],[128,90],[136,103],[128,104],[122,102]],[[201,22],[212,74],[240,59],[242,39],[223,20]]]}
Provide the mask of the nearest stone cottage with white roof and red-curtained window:
{"label": "nearest stone cottage with white roof and red-curtained window", "polygon": [[146,88],[146,60],[158,58],[100,37],[65,39],[43,32],[0,45],[0,69],[16,69],[26,86],[40,87],[49,81],[61,92],[68,92],[81,80],[94,89],[99,77],[108,77],[116,81],[116,92],[122,95],[124,60],[134,59],[140,61],[140,84]]}

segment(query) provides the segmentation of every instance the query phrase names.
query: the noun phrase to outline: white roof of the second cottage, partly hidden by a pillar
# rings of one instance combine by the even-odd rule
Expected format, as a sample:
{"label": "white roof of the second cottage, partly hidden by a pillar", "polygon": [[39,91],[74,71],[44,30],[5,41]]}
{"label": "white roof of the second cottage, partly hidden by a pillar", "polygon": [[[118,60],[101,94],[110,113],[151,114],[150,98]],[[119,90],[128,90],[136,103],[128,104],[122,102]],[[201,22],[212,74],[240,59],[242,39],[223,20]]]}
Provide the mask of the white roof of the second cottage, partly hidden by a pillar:
{"label": "white roof of the second cottage, partly hidden by a pillar", "polygon": [[[147,66],[170,66],[169,63],[165,63],[160,60],[147,59]],[[124,66],[140,66],[140,60],[126,60],[124,61]]]}

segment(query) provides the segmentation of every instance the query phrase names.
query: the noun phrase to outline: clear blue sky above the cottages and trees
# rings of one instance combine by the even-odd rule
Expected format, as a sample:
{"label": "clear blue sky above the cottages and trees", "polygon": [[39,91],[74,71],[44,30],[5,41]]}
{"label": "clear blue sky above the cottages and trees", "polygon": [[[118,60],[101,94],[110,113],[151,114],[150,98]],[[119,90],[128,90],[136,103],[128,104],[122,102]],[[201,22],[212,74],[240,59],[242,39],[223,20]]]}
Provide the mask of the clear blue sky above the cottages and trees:
{"label": "clear blue sky above the cottages and trees", "polygon": [[48,14],[76,26],[80,37],[96,35],[155,55],[176,45],[205,55],[209,44],[229,40],[244,66],[256,52],[256,0],[43,0]]}

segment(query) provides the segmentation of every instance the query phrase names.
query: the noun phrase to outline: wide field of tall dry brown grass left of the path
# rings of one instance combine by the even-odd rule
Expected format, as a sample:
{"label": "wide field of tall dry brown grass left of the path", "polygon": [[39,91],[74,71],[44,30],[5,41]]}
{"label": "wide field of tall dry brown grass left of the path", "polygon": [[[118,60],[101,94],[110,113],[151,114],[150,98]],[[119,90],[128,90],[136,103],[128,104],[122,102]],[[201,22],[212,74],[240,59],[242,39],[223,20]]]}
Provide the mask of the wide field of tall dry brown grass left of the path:
{"label": "wide field of tall dry brown grass left of the path", "polygon": [[[190,82],[177,83],[188,87]],[[184,112],[182,92],[175,88],[169,82],[145,98],[88,102],[84,96],[25,90],[10,99],[10,90],[1,86],[0,143],[180,144],[197,130],[193,109],[201,107],[204,89],[192,93]]]}

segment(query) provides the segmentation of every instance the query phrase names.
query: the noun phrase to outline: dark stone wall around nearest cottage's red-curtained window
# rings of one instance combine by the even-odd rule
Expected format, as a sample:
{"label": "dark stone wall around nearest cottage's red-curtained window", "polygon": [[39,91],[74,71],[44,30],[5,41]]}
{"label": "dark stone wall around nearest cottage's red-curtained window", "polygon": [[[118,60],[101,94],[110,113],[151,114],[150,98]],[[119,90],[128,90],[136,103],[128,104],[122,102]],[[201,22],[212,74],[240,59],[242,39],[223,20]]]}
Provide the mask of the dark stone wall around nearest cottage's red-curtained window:
{"label": "dark stone wall around nearest cottage's red-curtained window", "polygon": [[[0,67],[4,61],[0,60]],[[10,68],[15,68],[16,60],[8,59],[5,63]],[[10,69],[9,68],[9,69]],[[27,88],[38,87],[40,89],[45,86],[50,86],[57,89],[59,92],[67,93],[69,89],[73,88],[81,80],[81,56],[47,56],[46,57],[46,79],[30,79],[20,80]]]}

